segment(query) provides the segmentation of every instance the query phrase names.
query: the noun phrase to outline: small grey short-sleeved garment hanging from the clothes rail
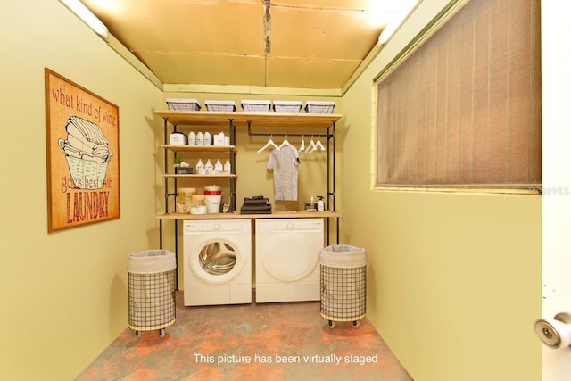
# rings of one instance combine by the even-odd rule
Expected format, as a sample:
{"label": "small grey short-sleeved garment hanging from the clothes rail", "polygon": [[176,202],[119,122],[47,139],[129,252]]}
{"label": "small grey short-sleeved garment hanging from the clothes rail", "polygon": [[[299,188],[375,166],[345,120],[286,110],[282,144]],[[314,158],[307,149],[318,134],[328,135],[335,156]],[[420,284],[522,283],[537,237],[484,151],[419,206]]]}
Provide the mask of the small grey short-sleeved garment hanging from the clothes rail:
{"label": "small grey short-sleeved garment hanging from the clothes rail", "polygon": [[268,169],[274,171],[276,200],[297,200],[297,166],[302,162],[293,145],[284,145],[269,154]]}

